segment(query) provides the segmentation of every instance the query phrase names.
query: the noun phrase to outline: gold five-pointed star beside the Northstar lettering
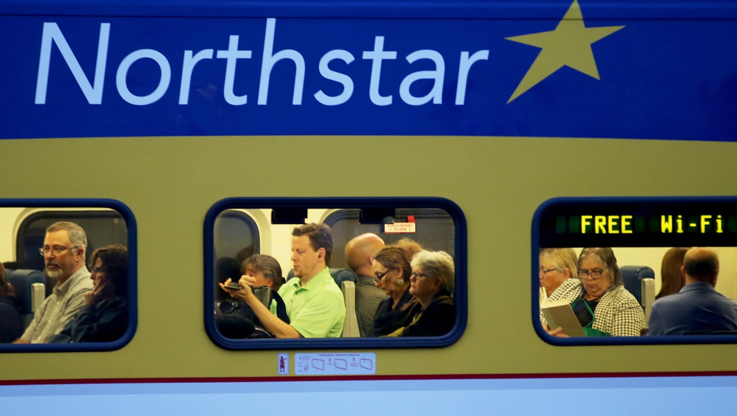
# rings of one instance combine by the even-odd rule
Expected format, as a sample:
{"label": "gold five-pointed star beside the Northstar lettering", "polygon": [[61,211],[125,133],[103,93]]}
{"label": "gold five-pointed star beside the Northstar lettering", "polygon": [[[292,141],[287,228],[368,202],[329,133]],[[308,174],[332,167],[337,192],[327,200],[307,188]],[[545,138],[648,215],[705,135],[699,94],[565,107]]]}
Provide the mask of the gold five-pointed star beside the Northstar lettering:
{"label": "gold five-pointed star beside the Northstar lettering", "polygon": [[506,38],[508,41],[542,49],[520,81],[520,85],[509,97],[507,104],[563,66],[570,66],[576,71],[600,79],[591,44],[623,27],[585,27],[579,0],[573,0],[555,30]]}

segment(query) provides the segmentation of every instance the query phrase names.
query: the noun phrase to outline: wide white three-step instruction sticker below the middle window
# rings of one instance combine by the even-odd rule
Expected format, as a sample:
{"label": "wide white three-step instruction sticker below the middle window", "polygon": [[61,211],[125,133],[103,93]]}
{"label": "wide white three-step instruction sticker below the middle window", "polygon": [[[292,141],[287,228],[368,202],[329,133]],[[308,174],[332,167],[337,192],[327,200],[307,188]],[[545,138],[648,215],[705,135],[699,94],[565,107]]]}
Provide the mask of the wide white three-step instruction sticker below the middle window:
{"label": "wide white three-step instruction sticker below the middle window", "polygon": [[373,375],[376,374],[375,353],[297,353],[294,355],[296,375]]}

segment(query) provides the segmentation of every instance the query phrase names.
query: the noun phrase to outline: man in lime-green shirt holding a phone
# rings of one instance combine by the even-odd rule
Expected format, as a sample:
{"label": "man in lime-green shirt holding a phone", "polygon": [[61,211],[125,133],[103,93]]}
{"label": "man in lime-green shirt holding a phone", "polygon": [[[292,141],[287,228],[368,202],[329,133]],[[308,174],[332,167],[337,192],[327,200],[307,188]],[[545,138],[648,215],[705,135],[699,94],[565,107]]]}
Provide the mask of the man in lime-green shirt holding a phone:
{"label": "man in lime-green shirt holding a phone", "polygon": [[266,330],[276,338],[336,338],[343,332],[346,305],[329,271],[332,235],[326,224],[309,223],[292,231],[292,263],[294,276],[279,289],[290,322],[276,316],[254,295],[253,277],[242,276],[240,289],[220,285],[231,297],[242,299],[254,311]]}

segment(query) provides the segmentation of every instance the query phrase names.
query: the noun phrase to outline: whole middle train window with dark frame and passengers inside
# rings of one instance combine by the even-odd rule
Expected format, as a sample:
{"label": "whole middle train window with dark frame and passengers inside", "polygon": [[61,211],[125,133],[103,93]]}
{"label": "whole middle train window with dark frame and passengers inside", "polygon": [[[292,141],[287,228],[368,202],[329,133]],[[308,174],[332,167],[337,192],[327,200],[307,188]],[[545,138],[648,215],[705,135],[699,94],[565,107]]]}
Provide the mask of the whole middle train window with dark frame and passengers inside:
{"label": "whole middle train window with dark frame and passengers inside", "polygon": [[206,330],[226,349],[442,347],[465,328],[466,223],[443,198],[230,198],[204,242]]}

